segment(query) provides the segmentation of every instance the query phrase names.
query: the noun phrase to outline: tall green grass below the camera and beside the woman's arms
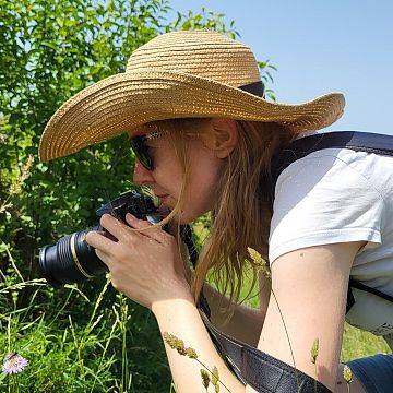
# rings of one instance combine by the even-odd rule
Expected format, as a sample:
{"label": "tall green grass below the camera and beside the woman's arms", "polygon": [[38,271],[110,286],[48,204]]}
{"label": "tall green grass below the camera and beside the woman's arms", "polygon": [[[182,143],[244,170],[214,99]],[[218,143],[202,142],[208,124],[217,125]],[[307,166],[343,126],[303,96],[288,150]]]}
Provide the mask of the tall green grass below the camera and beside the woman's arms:
{"label": "tall green grass below the camera and beside the woman's arms", "polygon": [[[0,392],[172,391],[154,317],[107,286],[105,277],[56,290],[40,281],[21,283],[12,267],[4,277],[0,356],[17,352],[29,365],[15,377],[0,372]],[[258,307],[255,290],[252,295],[245,303]],[[390,353],[383,338],[345,324],[342,361],[379,353]]]}

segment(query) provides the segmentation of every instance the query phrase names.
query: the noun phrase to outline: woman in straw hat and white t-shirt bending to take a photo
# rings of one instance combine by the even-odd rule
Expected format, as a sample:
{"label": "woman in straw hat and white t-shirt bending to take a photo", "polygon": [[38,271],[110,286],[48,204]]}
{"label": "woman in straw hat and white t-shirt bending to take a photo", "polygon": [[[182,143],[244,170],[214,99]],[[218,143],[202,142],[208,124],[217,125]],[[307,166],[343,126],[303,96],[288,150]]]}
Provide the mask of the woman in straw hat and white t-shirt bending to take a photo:
{"label": "woman in straw hat and white t-shirt bending to take a photo", "polygon": [[[213,345],[195,306],[202,286],[212,320],[222,330],[329,390],[346,392],[340,352],[348,277],[365,250],[386,247],[382,237],[391,233],[381,217],[391,213],[393,196],[379,191],[393,183],[393,158],[368,162],[362,154],[343,150],[305,157],[281,175],[274,213],[261,182],[275,152],[330,126],[343,108],[340,93],[301,105],[267,103],[247,46],[209,31],[172,32],[136,49],[124,73],[86,87],[59,108],[44,131],[39,153],[41,160],[49,160],[128,132],[139,158],[133,181],[150,187],[171,211],[162,224],[191,223],[206,212],[213,223],[190,276],[175,233],[130,215],[127,223],[104,215],[100,224],[118,241],[97,233],[90,233],[86,241],[108,265],[112,285],[150,308],[162,333],[182,338],[210,369],[216,366],[231,392],[254,390],[245,390]],[[136,148],[140,143],[148,155]],[[381,177],[377,168],[390,171]],[[344,176],[344,188],[337,188]],[[302,192],[306,198],[296,200]],[[315,195],[324,203],[315,204]],[[314,210],[321,213],[321,206],[323,216],[315,221]],[[224,308],[229,307],[239,297],[248,247],[270,262],[273,291],[261,275],[261,309],[237,306],[225,324],[219,296],[204,279],[210,269],[217,271],[218,282],[230,293],[224,299]],[[374,255],[368,266],[377,262]],[[393,251],[384,258],[392,261]],[[389,274],[392,287],[392,270]],[[314,365],[310,349],[315,338],[320,345]],[[166,349],[177,391],[204,391],[200,366]],[[389,391],[392,364],[389,356],[349,362],[350,391]]]}

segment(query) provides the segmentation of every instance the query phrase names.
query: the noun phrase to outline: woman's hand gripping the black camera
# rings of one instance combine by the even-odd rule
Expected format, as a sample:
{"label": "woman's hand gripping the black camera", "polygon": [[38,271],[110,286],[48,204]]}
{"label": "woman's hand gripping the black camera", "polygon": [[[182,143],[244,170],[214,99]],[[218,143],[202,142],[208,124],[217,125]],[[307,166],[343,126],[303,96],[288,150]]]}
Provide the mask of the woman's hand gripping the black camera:
{"label": "woman's hand gripping the black camera", "polygon": [[[126,222],[133,228],[152,226],[131,214],[126,216]],[[174,236],[162,228],[132,230],[110,214],[104,214],[99,223],[118,241],[94,230],[85,239],[108,266],[116,289],[150,309],[157,301],[192,298]]]}

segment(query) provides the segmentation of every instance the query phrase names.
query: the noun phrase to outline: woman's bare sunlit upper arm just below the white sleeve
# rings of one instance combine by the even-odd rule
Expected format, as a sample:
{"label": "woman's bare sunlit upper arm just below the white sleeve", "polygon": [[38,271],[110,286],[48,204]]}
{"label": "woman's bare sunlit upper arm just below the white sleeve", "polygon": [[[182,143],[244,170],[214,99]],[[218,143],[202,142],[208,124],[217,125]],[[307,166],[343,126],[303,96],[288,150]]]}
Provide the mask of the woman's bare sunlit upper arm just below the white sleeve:
{"label": "woman's bare sunlit upper arm just below the white sleeve", "polygon": [[[283,254],[272,265],[274,295],[258,348],[291,366],[294,356],[297,369],[333,392],[340,368],[349,271],[364,243],[303,248]],[[319,354],[313,365],[310,352],[315,338],[319,338]],[[248,386],[246,392],[253,390]]]}

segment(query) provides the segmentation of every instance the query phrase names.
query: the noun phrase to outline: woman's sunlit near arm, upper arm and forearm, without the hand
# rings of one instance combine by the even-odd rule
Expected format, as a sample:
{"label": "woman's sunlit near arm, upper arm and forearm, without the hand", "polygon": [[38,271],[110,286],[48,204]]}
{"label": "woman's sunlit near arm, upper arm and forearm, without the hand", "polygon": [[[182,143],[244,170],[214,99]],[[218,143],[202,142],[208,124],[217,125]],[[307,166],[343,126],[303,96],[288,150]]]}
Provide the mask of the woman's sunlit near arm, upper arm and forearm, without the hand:
{"label": "woman's sunlit near arm, upper arm and forearm, without the hand", "polygon": [[[335,393],[344,393],[347,390],[342,378],[343,365],[338,362],[344,325],[346,274],[349,274],[352,260],[361,245],[335,243],[289,252],[275,261],[272,271],[273,290],[287,326],[296,368],[315,378]],[[272,296],[258,348],[294,365],[274,299]],[[223,362],[191,295],[156,302],[152,311],[157,318],[160,332],[182,338],[187,347],[196,350],[199,360],[209,369],[212,370],[216,366],[221,381],[230,392],[255,393],[249,385],[245,389]],[[317,366],[310,361],[310,350],[315,337],[320,341]],[[177,391],[204,392],[200,377],[202,366],[193,359],[180,356],[167,344],[165,347]],[[221,391],[226,389],[221,385]],[[350,391],[364,393],[355,376]]]}

